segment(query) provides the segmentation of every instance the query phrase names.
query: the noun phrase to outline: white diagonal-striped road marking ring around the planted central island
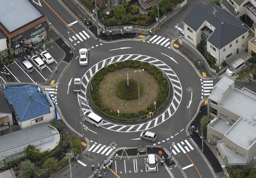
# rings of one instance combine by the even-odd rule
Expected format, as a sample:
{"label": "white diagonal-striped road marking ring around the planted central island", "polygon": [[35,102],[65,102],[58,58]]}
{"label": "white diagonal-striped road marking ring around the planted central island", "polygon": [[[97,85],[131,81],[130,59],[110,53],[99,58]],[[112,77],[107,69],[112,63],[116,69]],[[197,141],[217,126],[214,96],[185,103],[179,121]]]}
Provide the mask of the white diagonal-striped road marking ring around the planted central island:
{"label": "white diagonal-striped road marking ring around the planted central island", "polygon": [[[180,102],[182,100],[183,90],[180,83],[180,80],[178,79],[178,76],[175,74],[173,69],[166,65],[164,62],[162,62],[159,59],[153,58],[151,56],[147,55],[139,55],[139,54],[126,54],[126,55],[116,55],[112,56],[110,58],[104,59],[97,64],[93,65],[82,77],[82,89],[81,92],[78,93],[78,103],[80,103],[81,100],[87,100],[88,99],[88,89],[91,86],[88,86],[90,83],[90,79],[92,76],[98,72],[101,68],[107,67],[107,65],[110,65],[114,62],[121,62],[124,60],[139,60],[141,62],[148,62],[152,65],[155,65],[159,69],[161,69],[165,74],[166,77],[168,77],[169,81],[171,82],[171,90],[172,90],[172,98],[171,102],[168,104],[167,109],[162,112],[157,117],[154,117],[154,119],[147,121],[146,123],[141,124],[134,124],[134,125],[126,125],[126,124],[116,124],[109,122],[108,120],[104,120],[101,127],[114,131],[114,132],[140,132],[142,130],[151,129],[153,127],[156,127],[163,123],[164,121],[168,120],[173,116],[173,114],[177,111]],[[82,104],[82,110],[84,111],[92,111],[92,108],[86,104]]]}

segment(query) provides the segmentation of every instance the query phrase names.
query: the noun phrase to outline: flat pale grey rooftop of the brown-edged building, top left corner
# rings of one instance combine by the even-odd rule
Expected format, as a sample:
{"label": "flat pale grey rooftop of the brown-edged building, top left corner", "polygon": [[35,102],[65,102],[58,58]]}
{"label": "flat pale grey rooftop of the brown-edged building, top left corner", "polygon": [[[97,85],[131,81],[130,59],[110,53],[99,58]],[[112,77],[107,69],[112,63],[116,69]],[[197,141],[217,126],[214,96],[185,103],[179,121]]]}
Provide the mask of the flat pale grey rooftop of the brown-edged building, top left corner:
{"label": "flat pale grey rooftop of the brown-edged building, top left corner", "polygon": [[28,0],[1,0],[0,23],[10,33],[43,15]]}

